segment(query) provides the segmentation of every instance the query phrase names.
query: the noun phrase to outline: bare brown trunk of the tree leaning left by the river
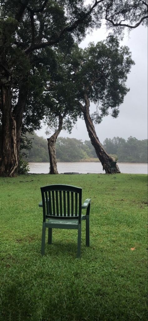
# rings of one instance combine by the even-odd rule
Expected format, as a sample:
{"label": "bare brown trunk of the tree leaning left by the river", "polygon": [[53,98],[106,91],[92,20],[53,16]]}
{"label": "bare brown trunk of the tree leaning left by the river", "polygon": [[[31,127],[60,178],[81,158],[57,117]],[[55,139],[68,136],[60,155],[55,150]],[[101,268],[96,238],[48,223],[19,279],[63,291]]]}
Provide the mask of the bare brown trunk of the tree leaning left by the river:
{"label": "bare brown trunk of the tree leaning left by the river", "polygon": [[[84,120],[85,120],[86,128],[90,137],[90,141],[94,146],[97,157],[103,166],[103,170],[105,170],[106,174],[110,174],[111,173],[110,162],[114,161],[114,159],[113,157],[107,154],[107,152],[105,151],[105,149],[103,148],[103,146],[101,145],[97,137],[95,127],[90,117],[89,107],[90,107],[90,101],[87,97],[85,97],[85,107],[81,105],[81,109],[84,115]],[[116,172],[120,173],[120,169],[117,164],[116,164]]]}

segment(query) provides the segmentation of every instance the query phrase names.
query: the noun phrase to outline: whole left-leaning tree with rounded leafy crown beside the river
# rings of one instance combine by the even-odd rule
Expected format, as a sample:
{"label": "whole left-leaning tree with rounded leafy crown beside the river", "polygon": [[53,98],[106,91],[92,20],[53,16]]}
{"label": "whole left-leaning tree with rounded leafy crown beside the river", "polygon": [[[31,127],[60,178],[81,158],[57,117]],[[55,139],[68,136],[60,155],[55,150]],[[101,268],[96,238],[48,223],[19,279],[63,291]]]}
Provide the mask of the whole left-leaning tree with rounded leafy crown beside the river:
{"label": "whole left-leaning tree with rounded leafy crown beside the river", "polygon": [[[119,114],[119,106],[129,89],[125,83],[134,62],[128,47],[119,46],[113,35],[96,46],[90,43],[85,50],[76,48],[72,55],[76,100],[84,116],[86,128],[97,157],[106,173],[110,173],[113,158],[100,143],[93,121],[99,124],[112,110],[112,117]],[[97,104],[96,112],[90,116],[90,101]],[[117,172],[120,172],[117,166]]]}

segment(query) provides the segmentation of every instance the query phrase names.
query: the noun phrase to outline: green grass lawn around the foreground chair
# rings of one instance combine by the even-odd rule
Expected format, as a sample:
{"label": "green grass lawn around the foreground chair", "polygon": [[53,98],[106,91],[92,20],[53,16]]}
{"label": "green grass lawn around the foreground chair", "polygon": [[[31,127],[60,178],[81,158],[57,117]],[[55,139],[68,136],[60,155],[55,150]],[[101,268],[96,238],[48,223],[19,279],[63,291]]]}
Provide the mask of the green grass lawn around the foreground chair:
{"label": "green grass lawn around the foreground chair", "polygon": [[[56,183],[92,200],[81,259],[76,230],[53,230],[40,254],[40,187]],[[1,321],[147,320],[147,175],[0,178],[0,225]]]}

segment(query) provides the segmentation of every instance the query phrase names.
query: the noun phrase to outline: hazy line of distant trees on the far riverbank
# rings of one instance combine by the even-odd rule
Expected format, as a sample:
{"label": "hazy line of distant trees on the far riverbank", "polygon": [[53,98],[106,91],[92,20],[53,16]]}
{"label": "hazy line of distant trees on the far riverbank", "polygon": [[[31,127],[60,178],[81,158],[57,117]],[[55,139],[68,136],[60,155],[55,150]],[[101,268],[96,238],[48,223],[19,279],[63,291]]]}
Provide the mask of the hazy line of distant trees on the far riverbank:
{"label": "hazy line of distant trees on the far riverbank", "polygon": [[[28,142],[31,144],[28,146]],[[119,162],[146,163],[148,140],[138,140],[130,136],[127,140],[121,137],[106,138],[103,147],[109,155]],[[27,150],[29,148],[29,150]],[[37,134],[28,134],[26,144],[21,145],[23,159],[30,162],[49,162],[47,140]],[[76,138],[59,137],[56,142],[56,157],[61,162],[98,161],[90,141],[82,142]]]}

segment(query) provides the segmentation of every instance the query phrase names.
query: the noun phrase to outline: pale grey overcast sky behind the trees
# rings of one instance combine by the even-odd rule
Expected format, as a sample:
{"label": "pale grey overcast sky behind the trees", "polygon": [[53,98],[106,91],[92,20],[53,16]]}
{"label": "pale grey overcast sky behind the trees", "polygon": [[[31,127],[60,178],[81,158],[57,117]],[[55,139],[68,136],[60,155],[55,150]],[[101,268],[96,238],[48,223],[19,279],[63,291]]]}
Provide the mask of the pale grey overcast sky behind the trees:
{"label": "pale grey overcast sky behind the trees", "polygon": [[[96,44],[97,41],[105,39],[106,36],[105,27],[102,27],[95,30],[91,35],[87,35],[80,46],[85,48],[90,41],[94,41]],[[108,115],[103,118],[100,125],[95,125],[96,133],[101,143],[106,137],[119,136],[127,139],[129,136],[133,136],[137,139],[147,138],[147,38],[147,29],[143,26],[132,30],[129,35],[125,32],[121,45],[129,47],[132,52],[132,59],[135,61],[127,80],[127,87],[130,88],[130,91],[119,108],[118,118],[114,119]],[[91,110],[92,112],[95,110],[95,105],[92,106]],[[36,131],[36,134],[47,138],[45,129],[46,126],[43,126],[41,130]],[[61,131],[60,136],[82,139],[82,141],[89,140],[85,122],[82,119],[78,120],[71,134]]]}

